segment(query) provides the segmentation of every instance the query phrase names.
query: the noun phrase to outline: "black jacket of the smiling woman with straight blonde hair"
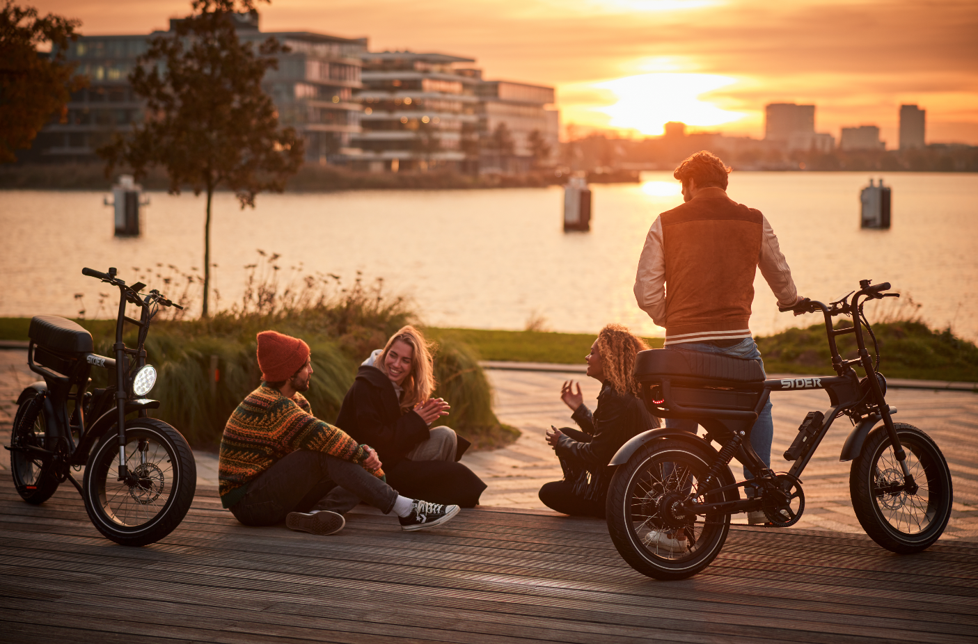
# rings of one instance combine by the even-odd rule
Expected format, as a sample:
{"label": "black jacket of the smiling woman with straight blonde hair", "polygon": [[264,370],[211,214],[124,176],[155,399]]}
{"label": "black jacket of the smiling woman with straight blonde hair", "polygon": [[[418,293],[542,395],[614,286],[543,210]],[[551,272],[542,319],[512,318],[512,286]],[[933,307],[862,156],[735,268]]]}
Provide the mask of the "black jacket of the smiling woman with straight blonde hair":
{"label": "black jacket of the smiling woman with straight blonde hair", "polygon": [[401,412],[390,378],[376,366],[363,365],[346,392],[336,427],[358,443],[374,448],[383,469],[393,467],[428,438],[427,424],[414,410]]}

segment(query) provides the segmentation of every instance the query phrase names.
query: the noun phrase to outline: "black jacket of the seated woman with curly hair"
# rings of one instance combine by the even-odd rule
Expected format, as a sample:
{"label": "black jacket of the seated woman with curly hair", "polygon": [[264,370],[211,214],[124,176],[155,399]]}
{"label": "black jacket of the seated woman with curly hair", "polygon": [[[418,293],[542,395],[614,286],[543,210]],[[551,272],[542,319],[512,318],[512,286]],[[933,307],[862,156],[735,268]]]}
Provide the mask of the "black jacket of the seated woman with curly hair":
{"label": "black jacket of the seated woman with curly hair", "polygon": [[648,413],[641,400],[619,394],[607,382],[601,385],[594,414],[581,405],[571,418],[584,431],[561,430],[564,435],[556,445],[556,455],[595,474],[630,438],[658,427],[658,418]]}

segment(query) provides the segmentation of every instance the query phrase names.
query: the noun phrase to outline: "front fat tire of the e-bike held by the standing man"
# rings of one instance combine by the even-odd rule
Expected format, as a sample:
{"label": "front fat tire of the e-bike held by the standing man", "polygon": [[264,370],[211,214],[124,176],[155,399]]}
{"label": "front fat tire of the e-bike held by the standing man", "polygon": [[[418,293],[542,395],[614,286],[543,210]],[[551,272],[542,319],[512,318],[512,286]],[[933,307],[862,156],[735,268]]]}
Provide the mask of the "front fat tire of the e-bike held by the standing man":
{"label": "front fat tire of the e-bike held by the standing man", "polygon": [[[877,463],[886,451],[892,449],[890,435],[885,426],[877,427],[869,433],[863,450],[853,461],[849,470],[849,494],[852,496],[856,518],[872,540],[892,552],[911,554],[925,550],[944,533],[951,518],[954,492],[948,462],[937,444],[913,425],[895,423],[894,427],[900,437],[900,444],[908,452],[908,459],[912,458],[917,463],[911,463],[914,481],[921,489],[927,490],[924,515],[930,518],[926,526],[915,533],[905,532],[899,526],[894,526],[887,520],[873,494]],[[896,457],[889,463],[890,468],[893,463],[897,463]],[[902,479],[901,473],[900,480]]]}

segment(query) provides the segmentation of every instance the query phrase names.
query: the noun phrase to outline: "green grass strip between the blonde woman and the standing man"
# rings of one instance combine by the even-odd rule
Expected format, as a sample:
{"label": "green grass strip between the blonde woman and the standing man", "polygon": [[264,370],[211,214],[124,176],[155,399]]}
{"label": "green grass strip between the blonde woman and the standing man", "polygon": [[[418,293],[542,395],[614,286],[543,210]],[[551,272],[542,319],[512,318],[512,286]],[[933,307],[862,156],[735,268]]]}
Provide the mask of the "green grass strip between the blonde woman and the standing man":
{"label": "green grass strip between the blonde woman and the standing man", "polygon": [[[427,327],[424,334],[434,340],[452,338],[465,342],[481,360],[518,363],[556,363],[583,365],[591,351],[594,333],[553,333],[550,331],[496,331],[477,328]],[[662,348],[662,338],[645,338],[648,346]]]}

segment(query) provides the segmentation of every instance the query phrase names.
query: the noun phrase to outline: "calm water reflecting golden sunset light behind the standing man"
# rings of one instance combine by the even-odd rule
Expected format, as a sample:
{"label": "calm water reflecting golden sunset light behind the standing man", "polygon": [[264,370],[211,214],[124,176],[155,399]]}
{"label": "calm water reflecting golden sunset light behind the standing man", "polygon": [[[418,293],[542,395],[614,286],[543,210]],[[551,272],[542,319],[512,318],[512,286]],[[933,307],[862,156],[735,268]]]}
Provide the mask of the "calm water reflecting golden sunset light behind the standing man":
{"label": "calm water reflecting golden sunset light behind the standing man", "polygon": [[[890,231],[859,228],[863,174],[734,173],[730,194],[771,221],[804,295],[828,301],[859,279],[890,281],[932,325],[978,338],[978,175],[882,176],[894,191]],[[357,270],[383,277],[431,324],[518,329],[536,313],[556,330],[593,332],[616,321],[661,334],[637,308],[632,285],[649,225],[683,200],[679,183],[657,172],[641,185],[592,189],[592,231],[571,234],[561,231],[558,188],[261,194],[254,210],[220,193],[215,285],[224,303],[239,298],[243,267],[263,248],[282,253],[286,269],[301,262],[347,280]],[[94,310],[104,288],[81,276],[83,266],[115,266],[124,279],[156,263],[200,268],[202,197],[154,193],[137,239],[112,236],[102,197],[0,192],[0,316],[74,315],[75,293]],[[760,275],[755,291],[756,334],[801,322],[778,314]]]}

